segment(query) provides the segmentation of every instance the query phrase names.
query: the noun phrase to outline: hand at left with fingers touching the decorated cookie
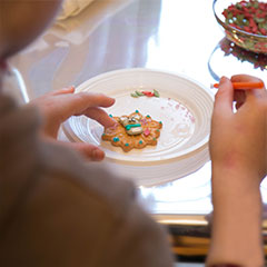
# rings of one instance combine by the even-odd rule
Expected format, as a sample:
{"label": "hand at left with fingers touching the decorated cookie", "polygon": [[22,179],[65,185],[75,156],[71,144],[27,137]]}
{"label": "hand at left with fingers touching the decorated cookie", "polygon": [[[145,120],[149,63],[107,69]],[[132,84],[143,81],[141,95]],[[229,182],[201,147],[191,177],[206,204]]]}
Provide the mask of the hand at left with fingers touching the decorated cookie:
{"label": "hand at left with fingers touching the decorated cookie", "polygon": [[[115,120],[100,108],[112,106],[115,99],[102,93],[73,92],[73,87],[61,89],[49,92],[29,103],[37,106],[44,118],[42,134],[46,138],[56,140],[60,125],[71,116],[85,115],[97,120],[103,127],[110,127],[115,123]],[[91,160],[102,160],[105,157],[105,152],[91,144],[65,142],[65,145],[79,150]]]}

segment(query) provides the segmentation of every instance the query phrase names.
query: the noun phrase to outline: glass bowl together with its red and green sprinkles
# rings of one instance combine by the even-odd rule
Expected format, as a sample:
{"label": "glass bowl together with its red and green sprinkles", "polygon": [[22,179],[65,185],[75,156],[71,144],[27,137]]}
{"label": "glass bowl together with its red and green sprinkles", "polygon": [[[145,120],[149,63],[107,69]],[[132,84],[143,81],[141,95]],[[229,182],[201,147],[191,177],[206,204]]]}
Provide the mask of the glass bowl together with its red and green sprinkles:
{"label": "glass bowl together with its red and green sprinkles", "polygon": [[267,53],[267,0],[214,0],[226,38],[253,52]]}

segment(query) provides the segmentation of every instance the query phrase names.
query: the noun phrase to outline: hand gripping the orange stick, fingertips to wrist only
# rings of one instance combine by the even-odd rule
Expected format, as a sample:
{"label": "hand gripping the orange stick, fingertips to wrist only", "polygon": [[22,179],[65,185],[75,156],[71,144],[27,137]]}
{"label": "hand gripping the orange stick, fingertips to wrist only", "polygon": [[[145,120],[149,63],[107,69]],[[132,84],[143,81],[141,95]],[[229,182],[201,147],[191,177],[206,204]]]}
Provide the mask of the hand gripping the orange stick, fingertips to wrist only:
{"label": "hand gripping the orange stick, fingertips to wrist only", "polygon": [[[239,75],[231,81],[259,81],[257,78]],[[236,99],[237,112],[233,111]],[[267,92],[254,89],[236,92],[230,80],[222,78],[216,95],[210,157],[212,167],[239,174],[256,172],[257,184],[266,175],[267,139]],[[255,177],[255,176],[254,176]]]}

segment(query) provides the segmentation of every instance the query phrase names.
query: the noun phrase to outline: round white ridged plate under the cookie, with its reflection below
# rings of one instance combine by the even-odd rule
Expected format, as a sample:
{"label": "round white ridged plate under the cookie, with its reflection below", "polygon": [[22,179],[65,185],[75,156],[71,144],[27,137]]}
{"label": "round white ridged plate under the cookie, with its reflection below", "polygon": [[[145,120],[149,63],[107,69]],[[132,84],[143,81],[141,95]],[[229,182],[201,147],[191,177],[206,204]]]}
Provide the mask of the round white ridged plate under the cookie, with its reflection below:
{"label": "round white ridged plate under the cookie, with its reflection below", "polygon": [[[159,91],[160,98],[130,96],[135,90],[152,89]],[[214,96],[209,89],[196,81],[156,70],[123,69],[97,76],[80,85],[76,91],[103,92],[116,98],[116,103],[107,109],[112,116],[129,115],[139,110],[142,115],[150,115],[152,119],[162,121],[156,147],[132,149],[129,152],[102,141],[103,128],[85,116],[71,117],[63,125],[65,134],[71,141],[100,146],[106,152],[106,161],[116,165],[123,175],[132,174],[134,170],[135,179],[142,180],[141,185],[152,185],[152,180],[157,180],[158,184],[164,178],[165,181],[179,178],[195,171],[208,160],[208,156],[201,156],[196,160],[199,164],[194,164],[194,158],[197,159],[199,152],[207,155],[207,151],[202,150],[207,149]],[[184,168],[177,162],[182,162]],[[185,170],[187,162],[190,162],[190,166]],[[160,178],[169,172],[170,165],[178,166],[179,169],[175,168],[168,179]],[[149,169],[159,169],[157,177]],[[146,178],[145,172],[148,174]],[[146,182],[148,180],[150,181]]]}

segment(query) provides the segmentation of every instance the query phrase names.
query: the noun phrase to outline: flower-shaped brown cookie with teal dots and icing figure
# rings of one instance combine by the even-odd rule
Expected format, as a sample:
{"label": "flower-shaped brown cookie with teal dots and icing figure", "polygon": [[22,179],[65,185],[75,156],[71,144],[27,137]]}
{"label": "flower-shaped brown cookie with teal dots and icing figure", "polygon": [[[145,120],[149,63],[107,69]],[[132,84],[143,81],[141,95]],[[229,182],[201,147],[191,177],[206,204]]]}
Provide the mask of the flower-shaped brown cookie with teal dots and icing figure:
{"label": "flower-shaped brown cookie with teal dots and icing figure", "polygon": [[142,116],[138,110],[113,119],[117,123],[105,129],[102,140],[110,141],[115,147],[121,147],[125,152],[132,148],[141,149],[157,145],[162,128],[161,121],[152,120],[149,115]]}

